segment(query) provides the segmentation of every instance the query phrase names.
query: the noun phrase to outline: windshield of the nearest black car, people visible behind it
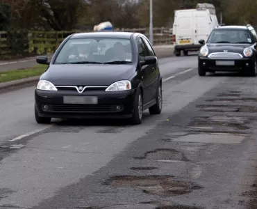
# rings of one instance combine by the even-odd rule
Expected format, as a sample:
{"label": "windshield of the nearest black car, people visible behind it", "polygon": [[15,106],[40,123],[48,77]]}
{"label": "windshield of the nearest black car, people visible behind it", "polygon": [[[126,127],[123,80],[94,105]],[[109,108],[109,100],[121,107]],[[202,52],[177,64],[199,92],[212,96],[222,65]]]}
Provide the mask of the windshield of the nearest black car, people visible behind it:
{"label": "windshield of the nearest black car, people visible behind it", "polygon": [[131,40],[124,38],[69,39],[56,57],[55,64],[132,63]]}

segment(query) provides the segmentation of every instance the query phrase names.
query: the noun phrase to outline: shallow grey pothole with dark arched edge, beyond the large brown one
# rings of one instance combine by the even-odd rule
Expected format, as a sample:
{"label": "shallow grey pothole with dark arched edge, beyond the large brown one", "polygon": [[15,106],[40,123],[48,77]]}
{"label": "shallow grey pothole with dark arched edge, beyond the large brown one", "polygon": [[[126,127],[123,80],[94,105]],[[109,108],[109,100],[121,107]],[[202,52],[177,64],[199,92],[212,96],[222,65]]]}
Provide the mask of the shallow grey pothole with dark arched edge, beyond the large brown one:
{"label": "shallow grey pothole with dark arched edge, beyond the large brown one", "polygon": [[156,149],[153,151],[149,151],[144,153],[142,157],[134,157],[136,160],[182,160],[182,161],[189,161],[187,157],[178,150],[174,149]]}

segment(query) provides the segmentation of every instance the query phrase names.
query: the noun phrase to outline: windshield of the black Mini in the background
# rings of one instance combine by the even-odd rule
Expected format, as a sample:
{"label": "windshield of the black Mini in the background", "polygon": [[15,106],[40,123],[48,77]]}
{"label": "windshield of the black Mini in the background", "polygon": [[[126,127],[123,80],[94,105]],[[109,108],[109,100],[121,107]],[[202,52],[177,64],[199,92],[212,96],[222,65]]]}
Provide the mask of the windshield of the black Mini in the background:
{"label": "windshield of the black Mini in the background", "polygon": [[207,43],[254,43],[248,30],[214,30],[210,33]]}

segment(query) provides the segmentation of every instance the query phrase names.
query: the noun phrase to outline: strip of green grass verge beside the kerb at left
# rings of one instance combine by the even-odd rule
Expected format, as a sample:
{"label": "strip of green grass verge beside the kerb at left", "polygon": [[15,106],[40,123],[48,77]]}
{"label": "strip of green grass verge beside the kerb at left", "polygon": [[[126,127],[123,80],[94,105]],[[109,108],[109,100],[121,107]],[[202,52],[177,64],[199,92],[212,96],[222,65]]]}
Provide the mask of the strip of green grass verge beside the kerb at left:
{"label": "strip of green grass verge beside the kerb at left", "polygon": [[27,77],[40,76],[46,69],[47,65],[35,65],[33,68],[26,68],[24,70],[0,71],[0,83],[11,82]]}

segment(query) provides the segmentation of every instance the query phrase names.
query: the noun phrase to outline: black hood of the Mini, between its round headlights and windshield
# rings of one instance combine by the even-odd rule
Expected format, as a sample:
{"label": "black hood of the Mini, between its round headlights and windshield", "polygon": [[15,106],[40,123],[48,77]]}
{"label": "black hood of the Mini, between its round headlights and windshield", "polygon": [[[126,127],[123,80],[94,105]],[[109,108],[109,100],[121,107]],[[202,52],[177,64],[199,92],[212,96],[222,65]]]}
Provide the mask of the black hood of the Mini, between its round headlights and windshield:
{"label": "black hood of the Mini, between its round headlights and windshield", "polygon": [[229,44],[229,45],[206,45],[209,49],[209,53],[212,52],[234,52],[234,53],[239,53],[242,54],[245,48],[251,47],[249,44]]}

